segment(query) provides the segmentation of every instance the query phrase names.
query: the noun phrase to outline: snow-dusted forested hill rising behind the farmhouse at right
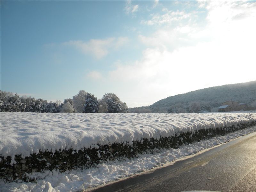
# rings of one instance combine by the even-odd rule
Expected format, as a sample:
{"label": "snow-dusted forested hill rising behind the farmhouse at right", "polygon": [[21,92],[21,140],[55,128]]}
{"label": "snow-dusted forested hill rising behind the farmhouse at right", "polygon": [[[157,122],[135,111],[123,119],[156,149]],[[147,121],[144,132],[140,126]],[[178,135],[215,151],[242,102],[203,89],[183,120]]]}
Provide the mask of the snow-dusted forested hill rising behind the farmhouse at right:
{"label": "snow-dusted forested hill rising behind the farmhouse at right", "polygon": [[185,113],[190,112],[192,102],[200,104],[200,110],[217,111],[221,103],[235,100],[255,107],[256,81],[228,84],[179,94],[159,100],[148,107],[130,108],[131,113]]}

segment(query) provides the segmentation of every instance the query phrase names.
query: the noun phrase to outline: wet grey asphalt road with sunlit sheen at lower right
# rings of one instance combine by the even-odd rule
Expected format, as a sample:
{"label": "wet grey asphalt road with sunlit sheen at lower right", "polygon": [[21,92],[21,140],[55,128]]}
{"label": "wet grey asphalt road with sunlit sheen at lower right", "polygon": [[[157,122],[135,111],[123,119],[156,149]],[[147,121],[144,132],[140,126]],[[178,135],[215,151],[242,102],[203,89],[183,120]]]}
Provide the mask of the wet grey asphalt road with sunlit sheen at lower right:
{"label": "wet grey asphalt road with sunlit sheen at lower right", "polygon": [[94,189],[256,192],[256,132],[175,164]]}

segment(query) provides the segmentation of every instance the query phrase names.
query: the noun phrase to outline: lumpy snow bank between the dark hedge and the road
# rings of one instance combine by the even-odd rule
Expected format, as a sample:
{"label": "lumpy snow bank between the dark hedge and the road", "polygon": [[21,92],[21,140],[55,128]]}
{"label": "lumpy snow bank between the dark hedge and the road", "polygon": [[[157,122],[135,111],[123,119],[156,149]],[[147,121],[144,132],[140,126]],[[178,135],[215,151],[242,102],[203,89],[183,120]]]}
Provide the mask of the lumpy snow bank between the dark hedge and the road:
{"label": "lumpy snow bank between the dark hedge and the road", "polygon": [[[37,178],[37,182],[11,182],[4,183],[0,180],[0,191],[83,191],[91,187],[106,184],[110,181],[120,180],[140,172],[151,170],[177,159],[196,154],[202,150],[212,148],[221,143],[226,143],[245,134],[256,131],[256,126],[230,133],[226,136],[213,137],[210,140],[183,145],[178,149],[157,150],[154,154],[143,154],[132,160],[122,162],[112,161],[99,164],[97,168],[72,170],[65,173],[58,171],[34,172],[29,176]],[[206,164],[202,164],[204,166]]]}

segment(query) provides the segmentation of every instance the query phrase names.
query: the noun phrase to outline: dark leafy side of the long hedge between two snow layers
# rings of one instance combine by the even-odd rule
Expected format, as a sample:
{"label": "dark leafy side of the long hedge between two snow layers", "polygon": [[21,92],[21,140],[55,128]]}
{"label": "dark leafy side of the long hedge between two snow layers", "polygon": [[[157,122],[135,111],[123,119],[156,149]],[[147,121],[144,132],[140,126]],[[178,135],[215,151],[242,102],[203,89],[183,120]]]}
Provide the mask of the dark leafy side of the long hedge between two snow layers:
{"label": "dark leafy side of the long hedge between two snow layers", "polygon": [[60,170],[65,172],[73,169],[84,169],[97,166],[105,161],[112,161],[123,158],[134,158],[142,153],[152,153],[155,149],[178,148],[183,144],[210,139],[217,135],[225,135],[237,130],[245,129],[256,125],[255,121],[218,127],[215,129],[201,129],[195,132],[180,132],[172,137],[160,137],[160,139],[141,139],[132,143],[113,143],[99,145],[98,148],[84,148],[78,151],[70,149],[43,151],[38,154],[33,153],[25,158],[15,155],[16,164],[11,164],[11,156],[0,155],[0,178],[7,182],[16,179],[24,181],[35,181],[28,173],[44,172],[46,170]]}

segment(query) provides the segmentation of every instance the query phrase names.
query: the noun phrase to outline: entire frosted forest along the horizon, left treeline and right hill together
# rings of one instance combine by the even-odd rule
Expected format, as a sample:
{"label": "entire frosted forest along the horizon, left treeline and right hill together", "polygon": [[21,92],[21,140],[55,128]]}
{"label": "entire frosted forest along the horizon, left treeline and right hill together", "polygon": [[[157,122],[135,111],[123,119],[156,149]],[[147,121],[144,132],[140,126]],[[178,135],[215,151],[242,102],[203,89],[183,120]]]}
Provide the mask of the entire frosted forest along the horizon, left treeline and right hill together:
{"label": "entire frosted forest along the horizon, left treeline and right hill together", "polygon": [[256,107],[256,81],[210,87],[159,100],[148,107],[129,108],[116,94],[102,99],[81,90],[72,99],[47,102],[0,90],[0,112],[50,113],[203,113],[216,112],[221,103],[235,100]]}

